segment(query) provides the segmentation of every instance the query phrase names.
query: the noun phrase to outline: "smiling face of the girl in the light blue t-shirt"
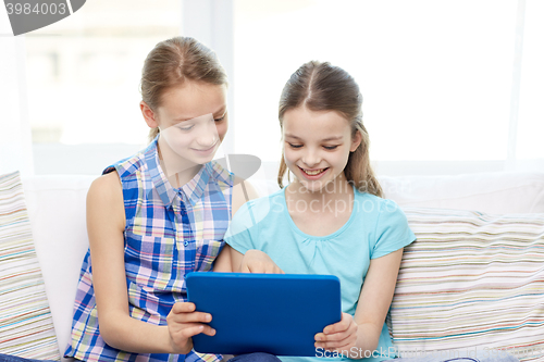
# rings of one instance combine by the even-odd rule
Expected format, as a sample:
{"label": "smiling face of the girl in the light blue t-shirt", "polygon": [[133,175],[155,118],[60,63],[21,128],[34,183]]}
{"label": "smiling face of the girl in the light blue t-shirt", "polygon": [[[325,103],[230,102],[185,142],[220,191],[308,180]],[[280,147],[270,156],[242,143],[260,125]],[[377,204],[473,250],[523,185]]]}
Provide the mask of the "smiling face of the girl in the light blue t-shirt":
{"label": "smiling face of the girl in the light blue t-shirt", "polygon": [[335,111],[298,107],[284,113],[282,128],[285,163],[311,192],[344,177],[349,152],[361,141],[359,133],[351,137],[349,122]]}

